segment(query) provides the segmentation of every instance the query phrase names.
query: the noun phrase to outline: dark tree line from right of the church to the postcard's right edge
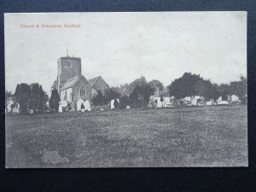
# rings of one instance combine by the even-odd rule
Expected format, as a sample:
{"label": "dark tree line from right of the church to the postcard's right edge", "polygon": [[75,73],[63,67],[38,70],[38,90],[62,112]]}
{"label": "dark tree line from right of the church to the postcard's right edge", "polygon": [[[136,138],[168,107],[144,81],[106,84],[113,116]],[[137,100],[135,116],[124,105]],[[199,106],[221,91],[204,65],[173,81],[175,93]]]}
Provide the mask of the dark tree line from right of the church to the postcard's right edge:
{"label": "dark tree line from right of the church to the postcard's right edge", "polygon": [[[119,98],[121,108],[131,105],[133,108],[141,108],[148,105],[150,96],[159,88],[163,90],[164,85],[157,79],[147,82],[144,77],[135,79],[130,84],[122,84],[110,88],[105,95],[101,91],[93,97],[95,105],[108,103],[111,99]],[[206,100],[217,100],[222,96],[223,100],[227,96],[239,96],[242,103],[247,103],[247,79],[242,77],[239,81],[230,84],[213,84],[210,79],[203,79],[199,74],[183,73],[183,76],[174,79],[167,86],[169,96],[182,99],[186,96],[203,96]],[[111,94],[109,94],[111,93]],[[162,98],[163,96],[161,96]]]}

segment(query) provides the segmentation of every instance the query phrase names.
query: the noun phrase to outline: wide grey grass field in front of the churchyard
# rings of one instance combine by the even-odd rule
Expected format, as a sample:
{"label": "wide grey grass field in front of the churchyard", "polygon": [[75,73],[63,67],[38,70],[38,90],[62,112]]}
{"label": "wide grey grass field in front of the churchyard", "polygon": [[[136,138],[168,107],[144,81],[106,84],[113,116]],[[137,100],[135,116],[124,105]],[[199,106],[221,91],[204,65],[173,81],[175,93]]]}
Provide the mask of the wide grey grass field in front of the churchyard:
{"label": "wide grey grass field in front of the churchyard", "polygon": [[247,166],[247,107],[8,115],[6,166]]}

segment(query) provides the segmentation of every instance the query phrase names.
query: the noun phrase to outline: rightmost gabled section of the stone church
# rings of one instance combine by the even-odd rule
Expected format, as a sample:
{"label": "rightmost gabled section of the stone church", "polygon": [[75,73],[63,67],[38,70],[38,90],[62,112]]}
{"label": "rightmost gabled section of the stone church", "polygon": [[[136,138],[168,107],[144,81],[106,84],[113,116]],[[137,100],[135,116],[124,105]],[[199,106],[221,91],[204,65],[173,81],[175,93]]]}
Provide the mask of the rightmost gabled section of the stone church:
{"label": "rightmost gabled section of the stone church", "polygon": [[102,76],[98,76],[93,79],[89,79],[91,85],[91,95],[96,96],[97,90],[101,90],[102,94],[104,95],[105,90],[109,89],[109,85],[102,79]]}

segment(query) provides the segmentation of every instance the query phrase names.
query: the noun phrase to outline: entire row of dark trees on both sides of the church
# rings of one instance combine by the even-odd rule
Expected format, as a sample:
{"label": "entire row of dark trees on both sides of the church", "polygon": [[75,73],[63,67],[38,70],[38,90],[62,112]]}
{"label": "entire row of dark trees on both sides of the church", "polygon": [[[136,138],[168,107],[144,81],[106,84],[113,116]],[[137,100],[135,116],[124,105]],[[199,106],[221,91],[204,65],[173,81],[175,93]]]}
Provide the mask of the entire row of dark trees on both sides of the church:
{"label": "entire row of dark trees on both sides of the church", "polygon": [[[27,110],[42,112],[45,109],[45,103],[49,102],[49,107],[58,111],[60,96],[52,86],[50,99],[43,90],[42,85],[17,84],[15,94],[5,91],[5,102],[9,97],[13,97],[15,102],[20,103],[21,113],[27,113]],[[147,81],[144,77],[135,79],[130,84],[123,84],[112,87],[102,93],[97,90],[96,96],[92,97],[92,104],[95,106],[107,105],[111,100],[119,98],[119,108],[125,108],[127,105],[131,108],[141,108],[148,106],[150,96],[154,91],[164,89],[164,85],[157,79]],[[222,96],[224,100],[228,95],[239,96],[241,102],[247,103],[247,79],[242,77],[239,81],[230,82],[230,84],[212,84],[211,80],[203,79],[198,74],[183,73],[183,76],[172,81],[167,86],[169,96],[177,99],[185,96],[204,96],[206,99],[218,99]]]}

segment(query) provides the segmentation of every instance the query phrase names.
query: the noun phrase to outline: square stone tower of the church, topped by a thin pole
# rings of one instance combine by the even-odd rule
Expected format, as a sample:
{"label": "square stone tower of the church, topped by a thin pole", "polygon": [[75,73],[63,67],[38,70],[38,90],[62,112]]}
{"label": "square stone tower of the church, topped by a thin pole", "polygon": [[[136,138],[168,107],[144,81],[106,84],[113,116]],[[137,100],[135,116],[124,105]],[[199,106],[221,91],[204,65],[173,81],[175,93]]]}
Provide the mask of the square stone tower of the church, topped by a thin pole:
{"label": "square stone tower of the church, topped by a thin pole", "polygon": [[60,93],[61,86],[67,82],[68,79],[81,75],[81,58],[79,57],[61,57],[58,60],[58,77],[57,88]]}

